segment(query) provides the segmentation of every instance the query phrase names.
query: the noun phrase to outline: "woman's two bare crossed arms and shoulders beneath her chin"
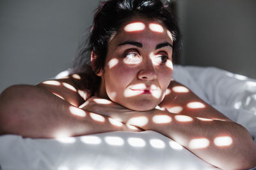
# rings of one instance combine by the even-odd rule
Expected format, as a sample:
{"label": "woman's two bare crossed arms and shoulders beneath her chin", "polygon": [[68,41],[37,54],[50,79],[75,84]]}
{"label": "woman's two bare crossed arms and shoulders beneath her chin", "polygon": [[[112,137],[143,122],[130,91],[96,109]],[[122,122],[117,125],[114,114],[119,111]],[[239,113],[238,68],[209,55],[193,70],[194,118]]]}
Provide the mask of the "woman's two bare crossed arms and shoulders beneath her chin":
{"label": "woman's two bare crossed arms and shoulders beneath her chin", "polygon": [[[158,109],[132,111],[92,97],[90,91],[79,88],[81,81],[82,75],[80,79],[69,76],[36,86],[15,85],[4,90],[0,96],[0,134],[56,138],[152,130],[221,169],[256,166],[256,146],[249,132],[189,89],[187,92],[174,90],[173,87],[184,87],[180,83],[173,81],[169,87],[171,93]],[[195,102],[199,104],[197,108],[189,105]]]}

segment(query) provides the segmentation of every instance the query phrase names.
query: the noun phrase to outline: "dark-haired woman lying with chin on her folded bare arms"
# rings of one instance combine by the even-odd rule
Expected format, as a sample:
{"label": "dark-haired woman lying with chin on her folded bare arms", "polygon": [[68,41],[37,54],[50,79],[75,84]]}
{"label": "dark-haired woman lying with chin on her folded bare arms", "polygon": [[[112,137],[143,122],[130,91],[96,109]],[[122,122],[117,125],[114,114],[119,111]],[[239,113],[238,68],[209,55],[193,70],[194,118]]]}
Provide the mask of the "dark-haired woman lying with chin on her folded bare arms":
{"label": "dark-haired woman lying with chin on her folded bare arms", "polygon": [[221,169],[256,166],[248,131],[172,80],[179,29],[161,1],[106,1],[81,47],[70,76],[4,90],[2,134],[152,130]]}

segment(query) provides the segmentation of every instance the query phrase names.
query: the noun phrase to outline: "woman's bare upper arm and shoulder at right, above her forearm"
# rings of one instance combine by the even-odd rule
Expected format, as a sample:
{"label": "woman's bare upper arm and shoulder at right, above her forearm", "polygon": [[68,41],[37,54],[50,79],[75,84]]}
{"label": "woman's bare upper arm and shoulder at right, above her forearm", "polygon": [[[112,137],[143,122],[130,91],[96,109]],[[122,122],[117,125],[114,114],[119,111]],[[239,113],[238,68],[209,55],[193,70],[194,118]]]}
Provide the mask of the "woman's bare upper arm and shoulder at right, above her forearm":
{"label": "woman's bare upper arm and shoulder at right, above her forearm", "polygon": [[166,96],[159,106],[166,108],[172,113],[180,113],[192,117],[229,120],[225,115],[196,96],[188,87],[174,80],[171,81],[166,90]]}

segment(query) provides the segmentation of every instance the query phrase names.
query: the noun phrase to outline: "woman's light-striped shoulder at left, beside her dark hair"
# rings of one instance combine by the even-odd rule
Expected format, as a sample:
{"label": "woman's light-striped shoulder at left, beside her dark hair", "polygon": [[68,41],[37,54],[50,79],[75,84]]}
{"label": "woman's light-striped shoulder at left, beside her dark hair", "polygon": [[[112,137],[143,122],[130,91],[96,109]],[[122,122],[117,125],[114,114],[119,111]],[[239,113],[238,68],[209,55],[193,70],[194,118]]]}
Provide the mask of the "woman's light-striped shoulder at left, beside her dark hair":
{"label": "woman's light-striped shoulder at left, beside her dark hair", "polygon": [[79,106],[90,97],[90,90],[84,86],[86,80],[84,74],[70,74],[60,79],[42,81],[36,86],[48,90],[74,106]]}

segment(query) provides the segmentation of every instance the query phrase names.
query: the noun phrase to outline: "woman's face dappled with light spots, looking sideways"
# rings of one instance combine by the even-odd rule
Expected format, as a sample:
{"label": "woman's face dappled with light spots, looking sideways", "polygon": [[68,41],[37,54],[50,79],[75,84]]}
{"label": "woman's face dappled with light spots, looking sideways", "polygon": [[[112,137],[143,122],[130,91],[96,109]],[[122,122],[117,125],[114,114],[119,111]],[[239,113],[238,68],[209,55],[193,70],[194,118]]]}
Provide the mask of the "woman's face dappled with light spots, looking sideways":
{"label": "woman's face dappled with light spots, looking sideways", "polygon": [[109,41],[99,97],[137,111],[154,109],[172,80],[172,35],[136,17]]}

